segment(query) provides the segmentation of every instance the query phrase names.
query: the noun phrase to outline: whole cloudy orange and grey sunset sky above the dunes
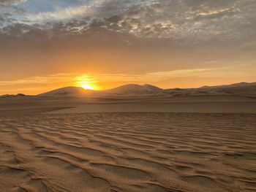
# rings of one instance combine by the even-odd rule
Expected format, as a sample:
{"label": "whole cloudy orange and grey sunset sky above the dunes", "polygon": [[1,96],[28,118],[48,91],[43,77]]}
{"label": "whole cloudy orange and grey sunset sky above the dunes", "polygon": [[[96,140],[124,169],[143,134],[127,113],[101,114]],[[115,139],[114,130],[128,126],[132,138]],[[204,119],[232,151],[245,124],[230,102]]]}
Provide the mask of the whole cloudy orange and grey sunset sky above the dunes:
{"label": "whole cloudy orange and grey sunset sky above the dunes", "polygon": [[0,94],[256,81],[256,0],[0,0]]}

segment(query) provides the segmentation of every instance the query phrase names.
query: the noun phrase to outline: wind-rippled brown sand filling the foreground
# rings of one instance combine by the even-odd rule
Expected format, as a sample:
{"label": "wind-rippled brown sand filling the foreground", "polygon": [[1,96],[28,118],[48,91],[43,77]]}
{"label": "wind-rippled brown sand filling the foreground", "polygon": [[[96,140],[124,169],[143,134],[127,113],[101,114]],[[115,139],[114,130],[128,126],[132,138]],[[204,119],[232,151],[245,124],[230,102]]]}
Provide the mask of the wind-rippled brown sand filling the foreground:
{"label": "wind-rippled brown sand filling the foreground", "polygon": [[1,191],[256,191],[256,115],[0,117]]}

